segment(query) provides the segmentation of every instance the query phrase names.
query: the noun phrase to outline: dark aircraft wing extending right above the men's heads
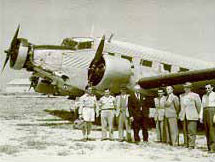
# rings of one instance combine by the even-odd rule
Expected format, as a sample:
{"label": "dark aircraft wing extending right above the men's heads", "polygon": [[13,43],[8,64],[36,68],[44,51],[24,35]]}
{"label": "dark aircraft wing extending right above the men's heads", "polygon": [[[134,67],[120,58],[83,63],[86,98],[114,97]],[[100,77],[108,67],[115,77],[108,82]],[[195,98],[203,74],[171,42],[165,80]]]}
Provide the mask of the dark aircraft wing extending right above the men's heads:
{"label": "dark aircraft wing extending right above the men's heads", "polygon": [[148,91],[149,95],[157,94],[158,88],[173,86],[175,93],[182,93],[185,82],[193,83],[193,91],[200,94],[204,93],[203,88],[205,84],[215,84],[215,68],[208,68],[202,70],[193,70],[180,73],[162,74],[153,77],[145,77],[138,81],[138,84],[144,90]]}

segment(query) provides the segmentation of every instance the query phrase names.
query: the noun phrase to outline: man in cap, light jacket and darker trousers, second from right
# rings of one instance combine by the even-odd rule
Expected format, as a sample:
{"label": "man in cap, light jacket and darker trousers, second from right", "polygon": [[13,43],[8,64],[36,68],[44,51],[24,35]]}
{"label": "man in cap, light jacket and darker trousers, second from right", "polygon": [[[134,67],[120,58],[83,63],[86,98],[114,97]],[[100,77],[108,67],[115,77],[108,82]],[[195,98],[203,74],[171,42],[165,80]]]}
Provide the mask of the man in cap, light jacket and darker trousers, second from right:
{"label": "man in cap, light jacket and darker trousers, second from right", "polygon": [[201,110],[201,99],[197,93],[191,91],[192,83],[186,82],[185,93],[180,95],[181,111],[179,119],[183,121],[184,145],[195,148],[197,121]]}

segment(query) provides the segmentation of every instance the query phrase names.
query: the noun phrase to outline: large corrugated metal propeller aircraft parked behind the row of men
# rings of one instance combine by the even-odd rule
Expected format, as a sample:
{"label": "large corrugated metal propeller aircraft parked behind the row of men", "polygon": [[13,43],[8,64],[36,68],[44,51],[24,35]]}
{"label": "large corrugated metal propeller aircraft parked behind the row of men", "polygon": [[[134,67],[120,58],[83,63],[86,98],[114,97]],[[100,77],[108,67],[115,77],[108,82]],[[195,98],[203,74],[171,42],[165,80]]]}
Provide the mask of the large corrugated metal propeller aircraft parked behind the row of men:
{"label": "large corrugated metal propeller aircraft parked behind the row of men", "polygon": [[139,84],[142,93],[152,97],[168,85],[181,93],[187,81],[200,93],[206,83],[215,84],[214,63],[115,41],[112,35],[108,40],[72,37],[61,45],[34,45],[18,38],[19,28],[5,51],[2,71],[9,60],[12,69],[25,68],[32,73],[31,87],[39,93],[74,98],[89,83],[98,94],[106,88],[119,93],[122,85],[132,90]]}

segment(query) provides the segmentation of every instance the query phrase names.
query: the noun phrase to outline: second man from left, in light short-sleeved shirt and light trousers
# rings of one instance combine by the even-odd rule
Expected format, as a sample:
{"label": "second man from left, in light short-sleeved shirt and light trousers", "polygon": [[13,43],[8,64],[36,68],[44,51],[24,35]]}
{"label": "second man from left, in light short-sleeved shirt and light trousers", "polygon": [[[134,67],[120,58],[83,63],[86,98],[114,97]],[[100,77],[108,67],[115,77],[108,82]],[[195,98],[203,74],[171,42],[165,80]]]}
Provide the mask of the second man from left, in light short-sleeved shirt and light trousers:
{"label": "second man from left, in light short-sleeved shirt and light trousers", "polygon": [[107,129],[109,130],[109,139],[113,140],[113,118],[115,114],[116,99],[110,95],[110,90],[106,89],[104,96],[100,99],[102,140],[107,138]]}

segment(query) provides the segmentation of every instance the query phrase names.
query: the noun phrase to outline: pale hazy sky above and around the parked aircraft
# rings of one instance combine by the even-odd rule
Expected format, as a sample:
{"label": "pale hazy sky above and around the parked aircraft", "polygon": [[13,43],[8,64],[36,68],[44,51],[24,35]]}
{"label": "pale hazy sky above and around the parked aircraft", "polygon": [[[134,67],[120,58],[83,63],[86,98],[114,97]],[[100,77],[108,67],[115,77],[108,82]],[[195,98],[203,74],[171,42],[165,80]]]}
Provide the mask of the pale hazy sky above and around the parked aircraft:
{"label": "pale hazy sky above and around the parked aircraft", "polygon": [[[0,66],[14,32],[34,44],[114,33],[116,40],[215,62],[214,0],[1,0]],[[8,66],[0,88],[27,77]]]}

